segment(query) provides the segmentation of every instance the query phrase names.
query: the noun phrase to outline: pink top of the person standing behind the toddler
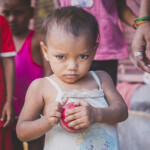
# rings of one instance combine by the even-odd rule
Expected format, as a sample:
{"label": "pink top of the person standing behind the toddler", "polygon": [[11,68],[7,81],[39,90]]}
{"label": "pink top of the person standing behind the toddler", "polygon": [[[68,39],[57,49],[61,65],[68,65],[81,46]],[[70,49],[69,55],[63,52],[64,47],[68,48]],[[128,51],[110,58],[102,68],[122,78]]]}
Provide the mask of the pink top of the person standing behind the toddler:
{"label": "pink top of the person standing behind the toddler", "polygon": [[61,7],[80,6],[96,17],[100,40],[95,60],[128,57],[128,46],[118,25],[116,0],[60,0],[60,5]]}

